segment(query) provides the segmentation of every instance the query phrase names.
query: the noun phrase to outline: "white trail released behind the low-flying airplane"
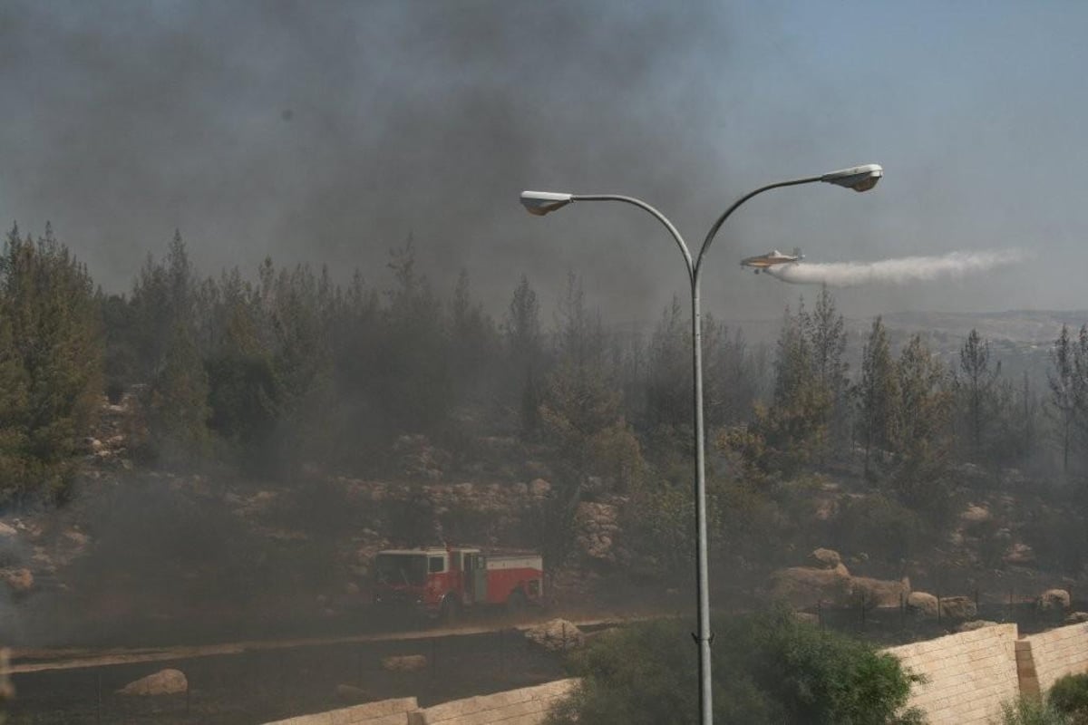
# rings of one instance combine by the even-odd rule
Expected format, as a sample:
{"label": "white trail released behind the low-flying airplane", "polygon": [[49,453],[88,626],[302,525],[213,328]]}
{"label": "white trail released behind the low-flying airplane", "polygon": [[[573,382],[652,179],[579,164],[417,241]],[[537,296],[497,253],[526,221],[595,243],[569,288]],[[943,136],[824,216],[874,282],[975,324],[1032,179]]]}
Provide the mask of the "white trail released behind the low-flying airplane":
{"label": "white trail released behind the low-flying airplane", "polygon": [[979,252],[949,252],[941,257],[904,257],[879,262],[799,263],[770,267],[767,274],[794,285],[856,287],[858,285],[902,285],[934,282],[986,272],[1021,262],[1027,254],[1018,249]]}

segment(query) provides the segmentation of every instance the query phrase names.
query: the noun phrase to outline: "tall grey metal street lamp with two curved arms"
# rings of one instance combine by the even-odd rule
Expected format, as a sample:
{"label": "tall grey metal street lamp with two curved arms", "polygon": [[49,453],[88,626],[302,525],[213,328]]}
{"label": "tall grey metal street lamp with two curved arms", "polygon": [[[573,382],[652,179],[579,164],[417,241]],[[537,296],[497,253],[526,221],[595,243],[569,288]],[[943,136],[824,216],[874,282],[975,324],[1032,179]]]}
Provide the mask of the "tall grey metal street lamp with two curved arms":
{"label": "tall grey metal street lamp with two curved arms", "polygon": [[704,450],[703,433],[703,330],[700,317],[698,305],[698,274],[703,266],[703,258],[715,235],[729,215],[737,211],[737,208],[752,197],[777,189],[783,186],[798,186],[800,184],[813,184],[823,182],[845,187],[855,191],[868,191],[877,185],[883,176],[883,168],[878,164],[865,164],[863,166],[851,166],[839,171],[821,174],[820,176],[806,176],[804,178],[778,182],[759,187],[750,191],[727,209],[717,218],[698,250],[698,257],[692,260],[691,251],[684,242],[683,237],[672,223],[664,214],[644,201],[633,197],[623,197],[611,193],[560,193],[556,191],[522,191],[521,203],[530,214],[543,216],[557,209],[561,209],[574,201],[622,201],[623,203],[639,207],[650,212],[660,222],[683,254],[684,263],[688,267],[688,279],[691,283],[691,333],[692,333],[692,372],[694,374],[694,418],[695,418],[695,535],[696,535],[696,563],[695,574],[698,590],[697,614],[698,633],[693,635],[698,645],[698,709],[700,722],[710,725],[714,722],[714,711],[712,709],[710,690],[710,598],[708,592],[709,576],[707,574],[707,545],[706,545],[706,452]]}

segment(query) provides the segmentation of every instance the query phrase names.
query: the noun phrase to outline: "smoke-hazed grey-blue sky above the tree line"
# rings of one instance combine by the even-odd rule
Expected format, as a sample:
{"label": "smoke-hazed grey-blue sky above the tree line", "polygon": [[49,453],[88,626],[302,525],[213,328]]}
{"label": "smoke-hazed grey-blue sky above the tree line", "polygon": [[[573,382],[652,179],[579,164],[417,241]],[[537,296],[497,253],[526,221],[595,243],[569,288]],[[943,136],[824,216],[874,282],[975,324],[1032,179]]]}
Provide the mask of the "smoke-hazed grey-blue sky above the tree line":
{"label": "smoke-hazed grey-blue sky above the tree line", "polygon": [[648,215],[535,218],[518,193],[636,196],[697,245],[756,186],[876,162],[873,192],[746,204],[706,307],[779,316],[799,288],[738,266],[775,247],[1015,247],[1034,259],[837,297],[851,315],[1084,309],[1085,27],[1072,1],[7,1],[0,220],[51,220],[111,291],[175,227],[203,273],[271,254],[378,287],[412,235],[440,293],[465,267],[496,314],[522,272],[551,307],[572,270],[607,318],[653,320],[687,283]]}

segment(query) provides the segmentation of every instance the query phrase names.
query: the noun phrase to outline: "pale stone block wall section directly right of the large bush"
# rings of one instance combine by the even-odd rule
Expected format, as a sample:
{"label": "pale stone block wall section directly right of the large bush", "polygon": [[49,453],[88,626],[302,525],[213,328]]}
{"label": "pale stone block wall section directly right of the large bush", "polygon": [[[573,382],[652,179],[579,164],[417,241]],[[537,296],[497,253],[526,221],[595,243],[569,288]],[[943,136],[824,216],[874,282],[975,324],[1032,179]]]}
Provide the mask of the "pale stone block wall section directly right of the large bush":
{"label": "pale stone block wall section directly right of the large bush", "polygon": [[1015,624],[1000,624],[886,651],[926,677],[907,704],[932,725],[987,725],[1001,722],[1001,702],[1019,695],[1016,636]]}

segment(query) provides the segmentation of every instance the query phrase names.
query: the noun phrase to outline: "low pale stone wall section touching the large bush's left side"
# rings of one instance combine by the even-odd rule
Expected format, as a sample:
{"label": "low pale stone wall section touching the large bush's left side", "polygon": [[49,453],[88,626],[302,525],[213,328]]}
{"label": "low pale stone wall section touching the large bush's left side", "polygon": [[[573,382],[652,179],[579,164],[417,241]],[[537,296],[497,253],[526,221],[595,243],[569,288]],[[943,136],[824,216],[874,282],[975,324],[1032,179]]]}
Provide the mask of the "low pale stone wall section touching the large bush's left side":
{"label": "low pale stone wall section touching the large bush's left side", "polygon": [[560,679],[519,690],[481,695],[417,710],[408,725],[539,725],[556,699],[565,697],[577,679]]}

